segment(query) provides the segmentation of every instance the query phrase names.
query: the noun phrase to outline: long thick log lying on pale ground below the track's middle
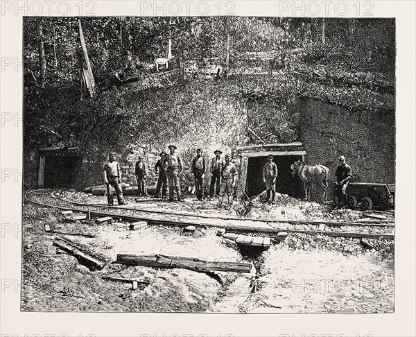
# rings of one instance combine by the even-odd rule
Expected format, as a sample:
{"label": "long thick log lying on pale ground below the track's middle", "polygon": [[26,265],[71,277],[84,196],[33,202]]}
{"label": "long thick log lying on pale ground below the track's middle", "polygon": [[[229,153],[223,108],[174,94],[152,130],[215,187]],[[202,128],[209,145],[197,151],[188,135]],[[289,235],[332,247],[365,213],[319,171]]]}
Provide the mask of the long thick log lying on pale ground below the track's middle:
{"label": "long thick log lying on pale ground below the track's middle", "polygon": [[115,263],[128,266],[147,266],[157,268],[186,268],[200,271],[226,271],[250,273],[250,263],[203,261],[188,257],[168,257],[164,255],[117,254]]}

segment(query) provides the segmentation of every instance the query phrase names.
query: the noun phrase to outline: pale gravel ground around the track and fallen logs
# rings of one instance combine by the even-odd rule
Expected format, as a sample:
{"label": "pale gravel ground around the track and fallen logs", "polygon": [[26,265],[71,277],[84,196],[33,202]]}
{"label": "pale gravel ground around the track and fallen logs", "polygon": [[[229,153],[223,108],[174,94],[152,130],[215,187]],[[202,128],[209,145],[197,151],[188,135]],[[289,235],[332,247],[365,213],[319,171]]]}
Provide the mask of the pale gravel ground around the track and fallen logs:
{"label": "pale gravel ground around the track and fallen logs", "polygon": [[[104,202],[104,197],[74,191],[60,191],[60,197],[78,202]],[[46,197],[39,194],[37,198]],[[281,198],[288,199],[286,205],[278,203],[270,207],[254,200],[249,217],[273,216],[302,221],[351,221],[365,217],[361,211],[331,211],[328,205],[299,202],[285,196]],[[129,207],[137,205],[148,209],[163,207],[164,211],[236,215],[235,211],[232,211],[233,214],[214,210],[214,202],[191,202],[191,198],[184,203],[158,200],[135,203],[132,198],[129,201]],[[207,224],[209,221],[212,220],[207,219]],[[51,230],[93,234],[93,238],[62,237],[105,261],[107,266],[98,271],[83,266],[71,254],[53,245],[53,239],[58,236],[46,233],[45,224],[49,224]],[[374,228],[377,231],[385,230],[382,227]],[[331,230],[336,230],[336,227],[331,227]],[[265,236],[254,236],[257,235]],[[223,284],[220,284],[218,279],[191,270],[125,267],[111,263],[118,253],[241,261],[243,257],[239,248],[216,236],[214,227],[200,227],[193,234],[185,234],[180,227],[156,225],[129,231],[128,223],[117,218],[112,223],[102,225],[94,221],[67,223],[59,210],[29,202],[24,205],[21,309],[92,312],[392,312],[394,242],[383,239],[368,241],[374,249],[367,250],[361,245],[360,239],[288,234],[284,241],[257,254],[257,260],[252,261],[257,275],[217,273],[223,280]],[[149,285],[132,290],[131,284],[103,280],[104,275],[146,279]]]}

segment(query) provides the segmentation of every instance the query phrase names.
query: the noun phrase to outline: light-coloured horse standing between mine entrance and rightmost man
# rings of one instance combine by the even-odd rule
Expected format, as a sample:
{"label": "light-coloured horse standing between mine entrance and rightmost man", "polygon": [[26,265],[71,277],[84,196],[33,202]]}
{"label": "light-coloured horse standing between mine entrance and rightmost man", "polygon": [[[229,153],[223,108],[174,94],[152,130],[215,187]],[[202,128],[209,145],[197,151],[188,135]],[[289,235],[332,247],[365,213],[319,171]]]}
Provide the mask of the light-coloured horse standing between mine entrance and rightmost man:
{"label": "light-coloured horse standing between mine entrance and rightmost man", "polygon": [[311,184],[320,184],[324,187],[322,201],[327,201],[329,168],[323,165],[306,165],[302,160],[298,160],[291,165],[292,176],[299,175],[300,180],[304,183],[305,200],[311,200]]}

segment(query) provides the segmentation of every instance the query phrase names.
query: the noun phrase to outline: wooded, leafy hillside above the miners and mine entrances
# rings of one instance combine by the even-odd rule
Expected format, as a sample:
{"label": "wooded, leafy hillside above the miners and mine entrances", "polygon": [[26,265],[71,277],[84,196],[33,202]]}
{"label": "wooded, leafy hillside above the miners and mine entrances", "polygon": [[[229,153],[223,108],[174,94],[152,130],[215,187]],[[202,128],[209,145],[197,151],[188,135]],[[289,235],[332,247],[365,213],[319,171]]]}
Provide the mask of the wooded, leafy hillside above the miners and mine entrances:
{"label": "wooded, leafy hillside above the miners and mine entrances", "polygon": [[[135,144],[243,144],[247,101],[284,105],[297,95],[352,110],[394,108],[393,19],[83,17],[81,22],[97,85],[93,97],[83,78],[78,18],[24,19],[27,150],[80,146],[94,158],[109,147]],[[154,76],[150,67],[166,55],[169,38],[185,76]],[[227,40],[229,76],[207,79],[209,65],[225,67]],[[129,69],[139,80],[109,87],[107,79],[118,69]],[[216,135],[221,139],[207,139]]]}

